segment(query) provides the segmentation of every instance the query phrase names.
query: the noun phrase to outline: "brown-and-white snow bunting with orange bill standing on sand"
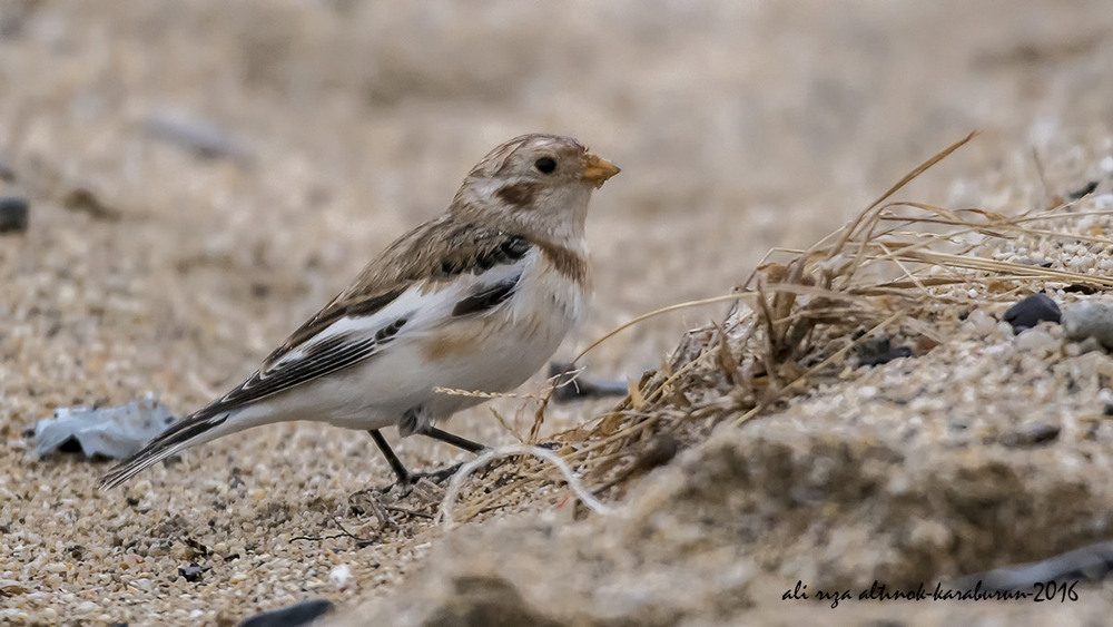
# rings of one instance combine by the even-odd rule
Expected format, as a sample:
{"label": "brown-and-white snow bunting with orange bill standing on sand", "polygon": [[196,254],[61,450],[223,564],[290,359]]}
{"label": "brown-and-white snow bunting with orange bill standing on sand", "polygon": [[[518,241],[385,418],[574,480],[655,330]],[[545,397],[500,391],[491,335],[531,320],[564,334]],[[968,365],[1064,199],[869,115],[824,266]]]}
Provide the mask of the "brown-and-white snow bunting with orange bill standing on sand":
{"label": "brown-and-white snow bunting with orange bill standing on sand", "polygon": [[482,450],[434,423],[483,399],[435,389],[506,392],[544,365],[584,315],[588,200],[618,173],[569,137],[499,146],[447,212],[398,238],[247,381],[171,424],[101,488],[188,447],[288,420],[368,431],[404,486],[417,476],[384,427]]}

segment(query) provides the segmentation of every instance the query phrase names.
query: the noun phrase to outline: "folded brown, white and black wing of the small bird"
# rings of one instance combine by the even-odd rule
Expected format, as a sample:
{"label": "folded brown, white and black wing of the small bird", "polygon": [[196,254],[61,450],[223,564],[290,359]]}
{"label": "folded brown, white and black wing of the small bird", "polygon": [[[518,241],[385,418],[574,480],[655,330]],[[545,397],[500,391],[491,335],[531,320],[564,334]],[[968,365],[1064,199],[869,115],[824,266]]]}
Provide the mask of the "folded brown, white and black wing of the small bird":
{"label": "folded brown, white and black wing of the small bird", "polygon": [[380,354],[397,336],[474,314],[509,297],[531,244],[460,223],[426,223],[367,265],[247,381],[199,411],[224,413]]}

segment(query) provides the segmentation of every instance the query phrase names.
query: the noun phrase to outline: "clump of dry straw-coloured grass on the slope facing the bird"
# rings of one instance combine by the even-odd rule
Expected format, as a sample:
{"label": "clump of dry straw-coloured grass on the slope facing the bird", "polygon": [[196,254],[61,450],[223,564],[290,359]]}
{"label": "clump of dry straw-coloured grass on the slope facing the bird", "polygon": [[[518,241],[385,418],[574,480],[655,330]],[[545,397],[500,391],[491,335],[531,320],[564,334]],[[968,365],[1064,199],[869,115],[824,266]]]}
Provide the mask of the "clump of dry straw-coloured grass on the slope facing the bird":
{"label": "clump of dry straw-coloured grass on the slope facing the bird", "polygon": [[[1058,232],[1054,225],[1113,212],[1076,213],[1074,203],[1062,198],[1052,198],[1050,208],[1017,216],[890,202],[909,182],[975,136],[972,133],[926,160],[811,247],[770,251],[733,293],[638,316],[578,355],[573,364],[650,317],[732,303],[721,322],[688,332],[669,360],[631,382],[629,394],[613,409],[554,437],[561,459],[588,486],[573,484],[572,491],[581,500],[607,493],[618,498],[629,479],[666,463],[716,424],[727,420],[741,424],[835,380],[854,365],[855,349],[870,337],[898,337],[915,345],[919,354],[944,341],[933,324],[940,316],[1012,302],[1036,291],[1036,285],[1058,284],[1083,292],[1113,287],[1113,278],[1106,276],[982,256],[992,252],[991,241],[999,239],[1109,243],[1097,233]],[[787,258],[775,261],[781,257]],[[549,396],[551,391],[541,399],[530,442],[536,442]],[[491,459],[501,457],[506,455]],[[562,472],[567,477],[568,469]],[[556,488],[562,476],[539,455],[514,455],[476,477],[476,484],[455,507],[456,521],[528,507],[543,494],[560,504],[567,498]],[[459,482],[450,489],[452,499],[459,489]]]}

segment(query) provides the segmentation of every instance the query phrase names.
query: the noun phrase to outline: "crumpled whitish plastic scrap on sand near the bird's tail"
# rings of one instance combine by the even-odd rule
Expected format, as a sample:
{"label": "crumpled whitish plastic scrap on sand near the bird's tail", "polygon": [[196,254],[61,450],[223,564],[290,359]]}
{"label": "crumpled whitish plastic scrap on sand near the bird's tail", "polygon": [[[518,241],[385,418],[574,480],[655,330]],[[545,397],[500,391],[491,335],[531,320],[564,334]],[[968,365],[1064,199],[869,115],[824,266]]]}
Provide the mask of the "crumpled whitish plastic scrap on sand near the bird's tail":
{"label": "crumpled whitish plastic scrap on sand near the bird's tail", "polygon": [[126,458],[174,422],[170,410],[154,396],[115,408],[59,408],[35,425],[42,457],[76,440],[87,457]]}

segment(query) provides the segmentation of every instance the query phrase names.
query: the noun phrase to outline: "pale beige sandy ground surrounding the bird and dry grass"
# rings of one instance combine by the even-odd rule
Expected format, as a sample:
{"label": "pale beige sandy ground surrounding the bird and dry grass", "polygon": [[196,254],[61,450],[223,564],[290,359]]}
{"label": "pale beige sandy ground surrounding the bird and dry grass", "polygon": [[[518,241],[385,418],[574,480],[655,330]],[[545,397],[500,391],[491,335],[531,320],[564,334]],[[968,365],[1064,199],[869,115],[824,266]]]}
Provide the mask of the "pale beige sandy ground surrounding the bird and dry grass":
{"label": "pale beige sandy ground surrounding the bird and dry grass", "polygon": [[[715,550],[699,559],[680,549],[630,548],[653,536],[637,525],[639,517],[656,519],[652,512],[666,512],[662,529],[689,529],[669,527],[673,510],[654,508],[676,502],[661,494],[688,490],[683,477],[695,469],[717,468],[715,451],[735,451],[748,463],[767,454],[762,468],[776,469],[784,455],[769,450],[812,451],[792,438],[858,438],[846,418],[868,403],[837,385],[758,427],[717,431],[707,448],[636,486],[618,503],[619,522],[573,523],[561,512],[542,512],[540,522],[493,516],[447,539],[424,518],[397,513],[395,525],[383,525],[353,504],[354,491],[385,484],[390,473],[370,440],[339,430],[296,424],[232,437],[108,493],[95,489],[106,464],[38,460],[24,432],[53,408],[122,403],[148,391],[183,413],[206,402],[247,375],[382,246],[440,213],[487,149],[521,133],[573,135],[623,168],[592,202],[597,300],[565,356],[637,314],[729,292],[770,248],[821,237],[975,128],[983,134],[974,143],[905,195],[945,206],[1034,208],[1046,195],[1107,176],[1101,163],[1113,146],[1111,27],[1113,12],[1100,1],[505,1],[436,10],[352,0],[0,4],[0,165],[14,173],[0,192],[31,202],[29,231],[0,235],[0,621],[234,624],[326,597],[341,607],[341,620],[371,599],[378,605],[347,619],[380,613],[402,624],[423,599],[434,599],[426,609],[452,606],[449,575],[486,568],[476,556],[514,538],[521,560],[491,568],[504,568],[498,575],[511,581],[536,581],[521,594],[552,620],[729,624],[752,613],[754,621],[789,624],[816,611],[780,601],[797,579],[907,584],[1107,537],[1113,492],[1099,438],[1084,464],[1066,459],[1073,449],[1053,449],[1031,455],[1020,474],[1002,471],[1012,479],[987,488],[998,503],[994,516],[1026,520],[1063,502],[1076,509],[1028,527],[1002,523],[1001,537],[977,536],[978,550],[963,552],[949,540],[975,533],[976,517],[959,527],[925,513],[929,523],[908,528],[914,540],[886,545],[895,553],[860,557],[847,547],[869,546],[884,529],[804,533],[806,521],[781,518],[766,502],[779,502],[779,492],[758,490],[754,478],[764,474],[729,470],[707,480],[756,501],[719,516],[768,510],[760,525],[743,517],[757,527],[733,529],[749,533],[745,541],[712,533]],[[160,129],[168,126],[219,129],[215,154],[167,137]],[[1053,189],[1035,185],[1033,155]],[[721,320],[722,308],[640,324],[592,352],[587,374],[637,379],[684,330]],[[971,351],[953,349],[917,368],[977,363]],[[1083,357],[1095,362],[1086,366],[1093,371],[1107,368],[1102,357]],[[874,388],[876,396],[887,389],[876,376],[847,385]],[[1093,413],[1106,384],[1083,386],[1091,398],[1077,396],[1078,406],[1057,394],[1021,406],[1054,417]],[[947,400],[913,412],[927,423],[952,408],[977,413],[994,402],[947,396],[955,389],[947,380],[932,385],[915,390]],[[494,404],[513,431],[528,428],[521,402]],[[546,425],[575,424],[604,406],[554,408]],[[453,424],[486,442],[515,441],[484,408]],[[958,503],[947,510],[956,520],[962,503],[989,498],[962,489],[962,460],[947,457],[962,453],[936,455],[926,445],[908,453],[885,438],[877,447],[900,454],[851,447],[824,468],[847,460],[857,467],[865,454],[881,461],[864,472],[886,481],[927,474],[957,484],[945,496]],[[416,441],[400,449],[414,466],[466,459]],[[796,477],[789,470],[812,458],[797,453],[786,472]],[[944,461],[933,466],[937,459]],[[1002,463],[1014,469],[1013,461]],[[974,474],[983,469],[969,463]],[[1001,497],[1028,493],[1017,486],[1035,476],[1050,486],[1040,493],[1097,487],[1023,508]],[[847,480],[879,481],[870,477]],[[847,520],[879,516],[868,507],[873,492],[848,493],[865,504]],[[550,515],[556,522],[545,522]],[[332,537],[341,528],[370,541]],[[1008,535],[1064,528],[1071,531],[1048,542]],[[686,546],[657,532],[662,547]],[[551,545],[539,539],[546,533]],[[311,539],[297,539],[304,537]],[[840,561],[851,553],[856,561]],[[431,555],[435,568],[421,571]],[[920,556],[918,566],[900,570],[900,555]],[[191,581],[181,570],[191,564],[210,568]],[[583,564],[602,566],[584,574]],[[341,566],[352,576],[337,585],[329,574]],[[536,576],[546,566],[561,585]],[[614,588],[599,586],[600,572],[615,574]],[[643,587],[622,584],[632,574]],[[692,584],[712,580],[717,587]],[[513,596],[498,581],[495,596]],[[688,606],[644,609],[657,607],[647,600],[652,591],[670,587],[690,592]],[[573,616],[539,589],[563,590],[565,600],[595,591]],[[1060,611],[1068,623],[1097,624],[1109,599],[1107,587],[1092,587],[1077,604],[1038,613],[978,606],[962,620],[1043,620]],[[879,604],[844,618],[943,624],[955,620],[954,607]]]}

